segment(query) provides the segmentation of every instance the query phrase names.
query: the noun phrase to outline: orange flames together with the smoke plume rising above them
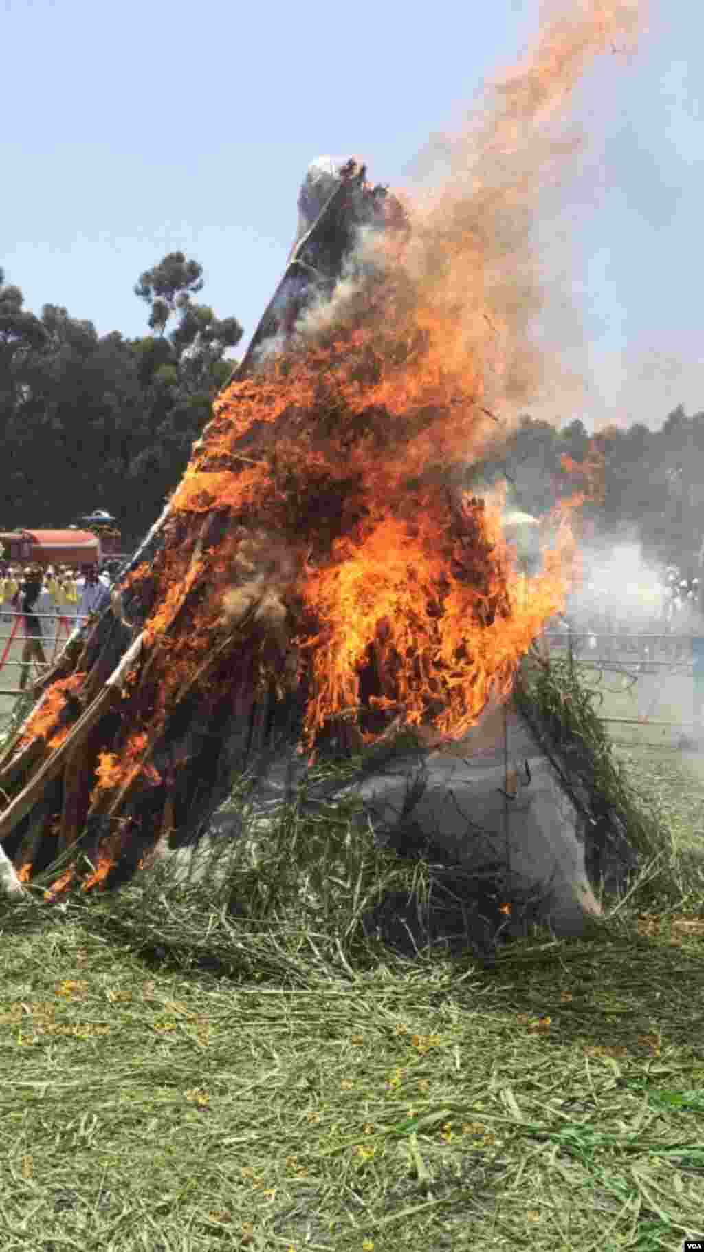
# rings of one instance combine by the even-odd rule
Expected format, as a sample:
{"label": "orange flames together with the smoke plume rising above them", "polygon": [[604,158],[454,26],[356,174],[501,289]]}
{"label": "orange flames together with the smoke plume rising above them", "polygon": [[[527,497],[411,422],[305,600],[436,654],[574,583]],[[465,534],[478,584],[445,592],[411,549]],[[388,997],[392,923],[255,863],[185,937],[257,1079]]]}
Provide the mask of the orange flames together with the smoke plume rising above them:
{"label": "orange flames together with the smoke plume rising above them", "polygon": [[[553,538],[529,577],[504,536],[504,497],[480,507],[463,476],[560,384],[559,354],[538,333],[550,290],[534,227],[544,187],[579,146],[559,126],[569,95],[598,54],[635,36],[639,14],[628,0],[571,0],[451,140],[448,184],[405,198],[403,245],[360,237],[364,277],[353,267],[300,317],[285,358],[215,402],[163,551],[123,585],[148,585],[155,606],[149,699],[126,685],[124,715],[140,729],[100,756],[91,803],[140,770],[159,781],[148,745],[233,621],[276,642],[259,659],[271,681],[283,651],[296,652],[309,746],[363,705],[460,736],[491,695],[510,692],[564,607],[581,497],[545,520]],[[221,526],[208,552],[196,543],[210,521]],[[86,888],[113,863],[105,855]]]}

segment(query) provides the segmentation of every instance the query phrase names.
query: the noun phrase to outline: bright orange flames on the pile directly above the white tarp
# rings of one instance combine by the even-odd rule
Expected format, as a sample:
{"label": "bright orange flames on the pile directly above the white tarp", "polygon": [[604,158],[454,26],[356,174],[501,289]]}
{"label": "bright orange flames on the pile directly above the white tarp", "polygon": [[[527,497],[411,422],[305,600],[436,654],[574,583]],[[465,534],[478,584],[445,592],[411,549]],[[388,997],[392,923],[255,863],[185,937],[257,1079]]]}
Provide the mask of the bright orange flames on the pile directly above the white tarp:
{"label": "bright orange flames on the pile directly above the white tarp", "polygon": [[[563,563],[571,546],[565,527],[544,573],[519,597],[498,510],[486,532],[495,545],[484,587],[461,577],[460,545],[438,528],[430,511],[414,525],[386,517],[356,545],[338,541],[334,562],[304,586],[306,603],[325,623],[301,642],[311,652],[315,691],[309,741],[330,717],[359,707],[360,670],[370,650],[386,680],[385,694],[371,702],[403,710],[409,725],[430,721],[441,734],[460,736],[493,692],[509,694],[520,656],[563,606]],[[503,610],[489,621],[493,602]]]}

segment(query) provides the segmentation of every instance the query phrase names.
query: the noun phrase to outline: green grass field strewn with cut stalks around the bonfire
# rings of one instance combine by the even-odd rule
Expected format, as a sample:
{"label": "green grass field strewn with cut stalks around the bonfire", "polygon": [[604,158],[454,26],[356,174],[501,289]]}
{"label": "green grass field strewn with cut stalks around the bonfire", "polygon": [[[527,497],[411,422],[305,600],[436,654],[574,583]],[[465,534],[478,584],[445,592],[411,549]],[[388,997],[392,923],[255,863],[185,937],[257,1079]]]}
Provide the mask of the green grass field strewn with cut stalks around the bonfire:
{"label": "green grass field strewn with cut stalks around the bonfire", "polygon": [[661,853],[585,939],[389,949],[365,909],[423,870],[341,809],[230,849],[219,890],[163,864],[1,904],[3,1252],[704,1236],[704,776],[620,730]]}

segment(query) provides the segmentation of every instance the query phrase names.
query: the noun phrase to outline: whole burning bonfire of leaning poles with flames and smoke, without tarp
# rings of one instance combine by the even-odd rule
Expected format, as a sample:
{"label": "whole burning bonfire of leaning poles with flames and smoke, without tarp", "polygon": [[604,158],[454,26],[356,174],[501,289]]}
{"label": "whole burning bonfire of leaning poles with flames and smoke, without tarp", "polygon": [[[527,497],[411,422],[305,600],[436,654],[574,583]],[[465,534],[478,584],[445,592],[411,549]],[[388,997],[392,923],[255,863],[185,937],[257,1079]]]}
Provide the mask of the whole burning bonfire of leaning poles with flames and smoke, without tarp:
{"label": "whole burning bonfire of leaning poles with flames and smoke, without tarp", "polygon": [[[124,880],[170,834],[198,839],[281,734],[309,757],[395,727],[456,740],[511,692],[564,607],[569,510],[526,577],[501,492],[461,480],[539,389],[539,267],[524,227],[506,233],[530,195],[520,125],[630,29],[620,5],[594,8],[506,79],[481,158],[430,203],[354,159],[311,170],[284,279],[183,481],[0,759],[20,881],[79,840],[88,860],[51,899]],[[564,144],[540,151],[543,169]]]}

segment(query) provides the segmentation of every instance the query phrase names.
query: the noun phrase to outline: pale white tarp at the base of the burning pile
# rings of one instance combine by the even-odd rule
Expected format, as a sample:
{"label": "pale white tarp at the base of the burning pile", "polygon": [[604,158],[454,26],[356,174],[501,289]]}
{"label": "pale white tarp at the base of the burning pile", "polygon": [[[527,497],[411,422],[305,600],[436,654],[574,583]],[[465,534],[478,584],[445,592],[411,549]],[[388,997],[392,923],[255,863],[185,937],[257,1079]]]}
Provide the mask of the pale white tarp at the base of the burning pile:
{"label": "pale white tarp at the base of the burning pile", "polygon": [[[245,829],[256,840],[266,840],[271,823],[305,776],[305,762],[291,745],[250,796],[244,823],[235,808],[225,805],[200,845],[160,848],[160,855],[170,860],[176,876],[199,880],[215,844],[238,839]],[[313,784],[309,803],[314,806],[320,799],[334,804],[358,796],[380,844],[403,851],[404,831],[409,831],[415,846],[426,841],[430,860],[435,849],[436,856],[445,854],[446,861],[456,864],[458,879],[460,871],[465,879],[480,879],[483,870],[499,865],[514,904],[510,918],[501,920],[508,934],[543,923],[558,935],[579,935],[589,916],[601,914],[586,876],[574,808],[510,704],[505,712],[500,705],[490,706],[460,742],[415,754],[391,752],[363,780],[335,790],[328,782],[318,801],[316,791]]]}

